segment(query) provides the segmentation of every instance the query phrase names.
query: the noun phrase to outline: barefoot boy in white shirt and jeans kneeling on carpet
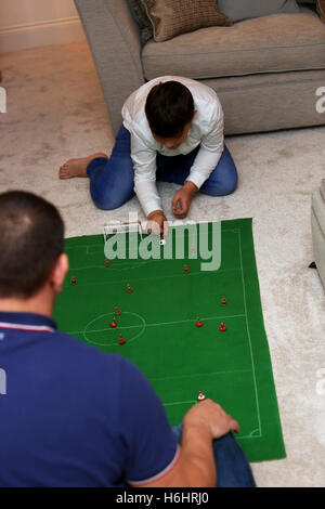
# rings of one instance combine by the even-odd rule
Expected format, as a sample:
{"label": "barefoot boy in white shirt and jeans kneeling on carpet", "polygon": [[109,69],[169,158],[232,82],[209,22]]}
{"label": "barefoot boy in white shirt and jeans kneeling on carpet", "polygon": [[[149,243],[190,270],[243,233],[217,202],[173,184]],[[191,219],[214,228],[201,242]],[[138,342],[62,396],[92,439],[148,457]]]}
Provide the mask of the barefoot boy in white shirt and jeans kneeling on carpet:
{"label": "barefoot boy in white shirt and jeans kneeling on carpet", "polygon": [[211,196],[235,190],[237,171],[224,145],[221,104],[209,87],[178,76],[153,79],[129,96],[122,118],[109,158],[92,154],[60,169],[61,179],[89,177],[99,208],[121,207],[135,192],[148,227],[155,224],[162,233],[167,219],[157,180],[182,185],[171,201],[179,219],[187,216],[198,190]]}

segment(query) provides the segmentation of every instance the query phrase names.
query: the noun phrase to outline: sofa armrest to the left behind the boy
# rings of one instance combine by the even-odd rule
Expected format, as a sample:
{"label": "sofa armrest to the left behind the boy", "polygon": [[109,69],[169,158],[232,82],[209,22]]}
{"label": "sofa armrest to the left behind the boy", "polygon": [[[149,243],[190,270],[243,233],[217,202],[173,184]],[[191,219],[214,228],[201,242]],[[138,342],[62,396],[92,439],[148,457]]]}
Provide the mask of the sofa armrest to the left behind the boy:
{"label": "sofa armrest to the left behind the boy", "polygon": [[75,3],[116,134],[123,102],[144,83],[140,31],[127,0],[75,0]]}

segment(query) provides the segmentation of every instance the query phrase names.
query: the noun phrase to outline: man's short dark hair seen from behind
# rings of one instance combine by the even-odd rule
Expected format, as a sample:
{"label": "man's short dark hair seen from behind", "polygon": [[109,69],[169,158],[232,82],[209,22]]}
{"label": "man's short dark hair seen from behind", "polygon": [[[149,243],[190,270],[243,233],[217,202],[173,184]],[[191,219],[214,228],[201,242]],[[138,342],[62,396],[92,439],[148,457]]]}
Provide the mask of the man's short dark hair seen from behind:
{"label": "man's short dark hair seen from behind", "polygon": [[20,191],[0,195],[0,297],[27,299],[44,285],[64,247],[56,208]]}

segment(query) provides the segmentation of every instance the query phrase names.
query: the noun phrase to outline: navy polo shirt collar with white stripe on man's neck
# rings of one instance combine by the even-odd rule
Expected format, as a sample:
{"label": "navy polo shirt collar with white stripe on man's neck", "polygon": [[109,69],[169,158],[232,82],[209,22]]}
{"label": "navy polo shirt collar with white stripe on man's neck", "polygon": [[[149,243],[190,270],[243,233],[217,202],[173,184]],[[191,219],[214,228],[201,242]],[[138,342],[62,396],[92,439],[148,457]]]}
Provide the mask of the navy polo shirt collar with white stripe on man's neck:
{"label": "navy polo shirt collar with white stripe on man's neck", "polygon": [[0,311],[0,329],[54,332],[57,326],[53,318],[37,313]]}

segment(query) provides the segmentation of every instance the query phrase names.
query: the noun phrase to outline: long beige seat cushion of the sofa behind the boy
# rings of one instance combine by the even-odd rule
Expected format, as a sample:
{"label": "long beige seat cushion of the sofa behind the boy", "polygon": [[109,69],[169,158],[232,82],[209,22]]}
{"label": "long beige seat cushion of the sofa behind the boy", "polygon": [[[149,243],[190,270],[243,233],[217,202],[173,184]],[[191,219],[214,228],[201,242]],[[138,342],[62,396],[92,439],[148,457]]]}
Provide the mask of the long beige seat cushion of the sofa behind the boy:
{"label": "long beige seat cushion of the sofa behind the boy", "polygon": [[202,28],[142,52],[147,80],[174,75],[219,78],[325,68],[325,26],[310,10]]}

